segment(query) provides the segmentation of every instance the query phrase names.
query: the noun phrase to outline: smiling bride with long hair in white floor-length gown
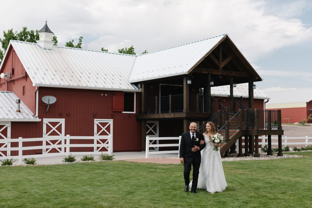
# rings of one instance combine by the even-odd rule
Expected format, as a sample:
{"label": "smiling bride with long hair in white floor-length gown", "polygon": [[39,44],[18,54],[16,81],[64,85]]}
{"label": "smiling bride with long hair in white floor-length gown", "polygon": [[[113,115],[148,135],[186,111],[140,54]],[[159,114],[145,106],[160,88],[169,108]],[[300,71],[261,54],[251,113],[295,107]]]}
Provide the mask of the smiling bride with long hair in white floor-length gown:
{"label": "smiling bride with long hair in white floor-length gown", "polygon": [[[216,134],[215,125],[209,121],[206,123],[206,132],[203,133],[204,141],[202,144],[206,144],[206,147],[201,152],[202,162],[199,168],[198,175],[198,189],[204,189],[214,194],[215,192],[222,192],[227,187],[227,181],[225,180],[220,150],[213,150],[215,143],[212,143],[209,136]],[[216,143],[216,146],[220,146],[220,143]],[[192,185],[192,181],[190,186]]]}

